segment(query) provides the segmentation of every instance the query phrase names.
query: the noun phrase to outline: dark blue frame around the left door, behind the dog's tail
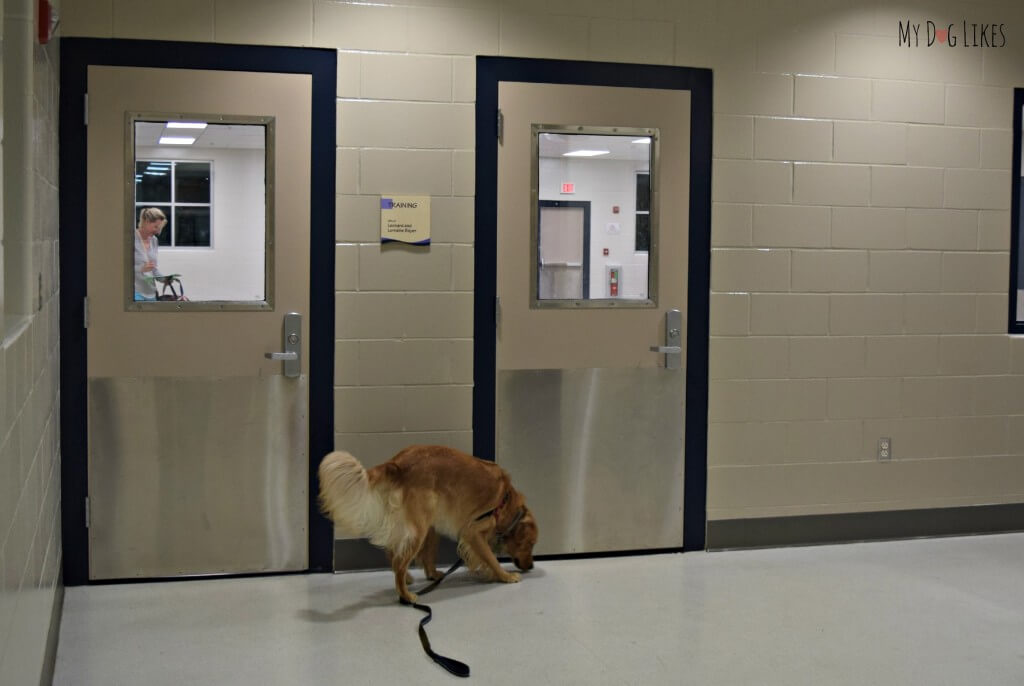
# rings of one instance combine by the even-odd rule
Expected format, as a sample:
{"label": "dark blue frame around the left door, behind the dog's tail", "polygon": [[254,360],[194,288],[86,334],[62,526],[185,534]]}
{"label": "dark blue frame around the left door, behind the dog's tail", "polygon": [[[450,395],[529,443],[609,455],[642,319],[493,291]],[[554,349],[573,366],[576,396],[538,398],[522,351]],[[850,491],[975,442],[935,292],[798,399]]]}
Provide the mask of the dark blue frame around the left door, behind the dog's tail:
{"label": "dark blue frame around the left door, behind the dog's tail", "polygon": [[[63,582],[89,580],[85,520],[86,128],[90,65],[309,74],[312,78],[309,255],[309,566],[333,570],[334,529],[316,505],[319,456],[334,444],[335,50],[118,39],[60,40],[60,477]],[[225,494],[225,498],[229,497]]]}

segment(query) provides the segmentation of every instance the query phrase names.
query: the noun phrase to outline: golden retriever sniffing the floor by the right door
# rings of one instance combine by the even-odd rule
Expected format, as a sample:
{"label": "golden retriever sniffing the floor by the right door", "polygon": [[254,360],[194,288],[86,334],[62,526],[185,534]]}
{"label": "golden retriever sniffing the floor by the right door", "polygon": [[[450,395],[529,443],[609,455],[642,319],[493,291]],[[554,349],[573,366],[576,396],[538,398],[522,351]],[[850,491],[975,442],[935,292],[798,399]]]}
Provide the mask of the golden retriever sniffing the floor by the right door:
{"label": "golden retriever sniffing the floor by the right door", "polygon": [[427,578],[439,577],[438,533],[457,541],[466,566],[490,581],[520,578],[495,552],[506,551],[523,571],[534,567],[538,527],[522,494],[495,463],[452,447],[413,445],[370,470],[348,453],[331,453],[319,466],[319,502],[344,531],[389,553],[395,589],[411,603],[414,559]]}

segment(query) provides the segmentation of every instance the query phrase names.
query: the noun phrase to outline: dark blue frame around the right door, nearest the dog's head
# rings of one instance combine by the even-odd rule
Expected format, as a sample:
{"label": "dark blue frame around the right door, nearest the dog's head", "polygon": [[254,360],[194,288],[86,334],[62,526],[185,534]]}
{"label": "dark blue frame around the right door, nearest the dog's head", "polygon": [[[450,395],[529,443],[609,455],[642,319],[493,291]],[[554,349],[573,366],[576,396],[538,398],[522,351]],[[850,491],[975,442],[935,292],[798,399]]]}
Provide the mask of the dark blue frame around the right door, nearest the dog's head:
{"label": "dark blue frame around the right door, nearest the dog's head", "polygon": [[495,459],[495,274],[498,264],[498,84],[502,81],[688,90],[689,286],[682,550],[703,550],[708,521],[708,345],[711,293],[712,73],[706,69],[524,57],[476,58],[473,453]]}

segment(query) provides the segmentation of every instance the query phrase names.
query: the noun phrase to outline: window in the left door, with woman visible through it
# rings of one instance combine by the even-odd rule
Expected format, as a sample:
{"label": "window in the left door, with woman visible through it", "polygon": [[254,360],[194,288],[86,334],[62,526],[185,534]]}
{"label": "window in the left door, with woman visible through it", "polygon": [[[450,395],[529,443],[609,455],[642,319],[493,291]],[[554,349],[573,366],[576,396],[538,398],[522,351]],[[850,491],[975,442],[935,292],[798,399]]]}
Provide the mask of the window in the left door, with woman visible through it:
{"label": "window in the left door, with woman visible through it", "polygon": [[129,116],[129,309],[272,308],[272,119]]}

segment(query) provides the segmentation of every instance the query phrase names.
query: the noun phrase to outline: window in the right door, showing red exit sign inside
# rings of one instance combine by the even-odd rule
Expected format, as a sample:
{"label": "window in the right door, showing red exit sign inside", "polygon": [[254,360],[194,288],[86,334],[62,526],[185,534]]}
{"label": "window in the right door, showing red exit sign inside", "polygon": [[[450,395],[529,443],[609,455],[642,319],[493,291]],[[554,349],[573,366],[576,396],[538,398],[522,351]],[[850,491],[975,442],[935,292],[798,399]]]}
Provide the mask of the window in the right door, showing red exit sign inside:
{"label": "window in the right door, showing red exit sign inside", "polygon": [[534,307],[652,307],[657,131],[534,125]]}

